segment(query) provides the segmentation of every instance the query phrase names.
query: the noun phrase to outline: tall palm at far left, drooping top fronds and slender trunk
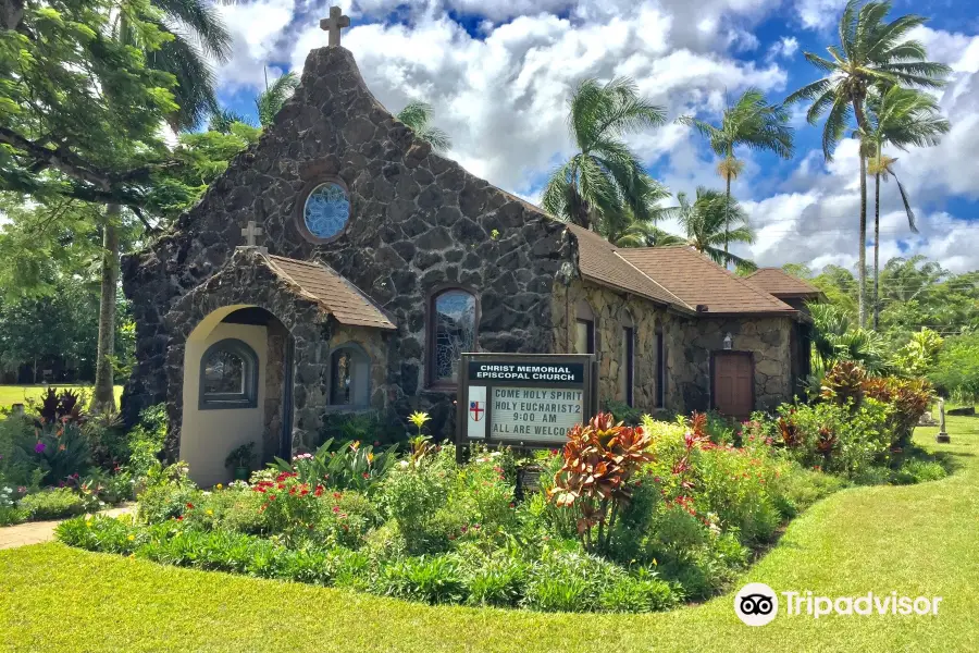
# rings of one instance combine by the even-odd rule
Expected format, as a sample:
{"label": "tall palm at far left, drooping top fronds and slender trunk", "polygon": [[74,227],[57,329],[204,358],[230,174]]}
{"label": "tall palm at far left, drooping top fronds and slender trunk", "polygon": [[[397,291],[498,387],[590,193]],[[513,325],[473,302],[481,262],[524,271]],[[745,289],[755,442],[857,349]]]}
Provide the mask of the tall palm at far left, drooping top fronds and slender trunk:
{"label": "tall palm at far left, drooping top fronds and slender trunk", "polygon": [[[178,109],[170,119],[174,131],[194,128],[200,120],[218,108],[214,75],[208,58],[224,61],[231,54],[231,36],[214,9],[203,0],[151,0],[158,16],[141,16],[156,23],[173,39],[157,49],[148,49],[120,12],[114,23],[113,38],[144,49],[147,64],[176,77],[173,89]],[[128,8],[142,11],[137,3]],[[108,205],[102,225],[102,279],[99,300],[99,335],[96,379],[91,405],[96,410],[115,408],[115,380],[112,358],[115,353],[116,286],[119,283],[117,226],[122,207]]]}

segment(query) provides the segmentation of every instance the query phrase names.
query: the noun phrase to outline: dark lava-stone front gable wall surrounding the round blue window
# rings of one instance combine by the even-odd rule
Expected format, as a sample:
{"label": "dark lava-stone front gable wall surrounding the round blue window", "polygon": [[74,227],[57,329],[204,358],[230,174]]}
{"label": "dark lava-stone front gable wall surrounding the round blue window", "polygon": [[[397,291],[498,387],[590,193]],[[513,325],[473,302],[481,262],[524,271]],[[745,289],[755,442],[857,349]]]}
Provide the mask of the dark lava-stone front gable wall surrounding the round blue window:
{"label": "dark lava-stone front gable wall surrounding the round blue window", "polygon": [[[343,235],[315,245],[296,223],[302,190],[331,177],[347,186],[351,218]],[[179,370],[163,318],[222,268],[249,220],[264,230],[271,254],[327,262],[392,316],[398,331],[388,341],[388,405],[402,415],[430,410],[435,433],[451,433],[454,393],[424,387],[434,288],[478,291],[480,349],[550,349],[552,288],[574,257],[563,225],[432,153],[374,100],[347,50],[322,48],[309,54],[301,86],[260,141],[235,158],[174,232],[124,260],[137,324],[123,397],[127,421],[168,399],[168,378]],[[296,383],[309,383],[301,369]]]}

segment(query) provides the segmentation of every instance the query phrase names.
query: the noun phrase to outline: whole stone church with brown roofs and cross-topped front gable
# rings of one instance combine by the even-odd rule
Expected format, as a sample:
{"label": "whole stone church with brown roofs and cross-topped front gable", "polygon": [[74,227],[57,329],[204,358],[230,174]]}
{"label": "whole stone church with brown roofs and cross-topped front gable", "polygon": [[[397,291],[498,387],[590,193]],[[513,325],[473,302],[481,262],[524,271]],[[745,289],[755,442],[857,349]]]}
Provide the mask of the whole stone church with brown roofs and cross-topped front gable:
{"label": "whole stone church with brown roofs and cross-topped front gable", "polygon": [[123,263],[124,412],[165,402],[166,455],[195,480],[226,480],[243,443],[313,448],[333,412],[426,410],[450,436],[468,350],[594,354],[602,404],[645,411],[792,398],[817,291],[547,215],[434,153],[331,42],[260,141]]}

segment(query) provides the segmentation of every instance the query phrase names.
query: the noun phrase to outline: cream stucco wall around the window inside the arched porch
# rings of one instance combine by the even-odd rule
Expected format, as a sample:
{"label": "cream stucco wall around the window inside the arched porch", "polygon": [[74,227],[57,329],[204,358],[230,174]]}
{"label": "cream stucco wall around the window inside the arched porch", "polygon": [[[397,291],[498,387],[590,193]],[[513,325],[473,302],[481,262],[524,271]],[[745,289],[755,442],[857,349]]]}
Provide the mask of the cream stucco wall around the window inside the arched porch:
{"label": "cream stucco wall around the window inside the arched porch", "polygon": [[[233,448],[247,442],[256,443],[256,454],[261,455],[265,405],[265,366],[269,361],[268,333],[264,326],[218,323],[209,333],[203,322],[187,340],[184,354],[184,419],[181,426],[181,460],[190,466],[190,478],[200,486],[227,482],[233,470],[224,467],[224,459]],[[214,343],[238,338],[258,355],[258,405],[256,408],[223,408],[200,410],[200,358]]]}

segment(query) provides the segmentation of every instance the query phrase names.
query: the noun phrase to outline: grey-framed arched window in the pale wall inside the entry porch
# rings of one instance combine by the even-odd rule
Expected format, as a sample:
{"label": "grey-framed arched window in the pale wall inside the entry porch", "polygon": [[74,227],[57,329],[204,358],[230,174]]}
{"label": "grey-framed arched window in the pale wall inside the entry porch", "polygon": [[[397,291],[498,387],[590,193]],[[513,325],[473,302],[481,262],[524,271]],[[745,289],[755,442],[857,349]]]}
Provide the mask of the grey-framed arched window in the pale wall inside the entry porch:
{"label": "grey-framed arched window in the pale wall inside the entry porch", "polygon": [[208,347],[200,359],[201,410],[258,406],[258,356],[237,338]]}

